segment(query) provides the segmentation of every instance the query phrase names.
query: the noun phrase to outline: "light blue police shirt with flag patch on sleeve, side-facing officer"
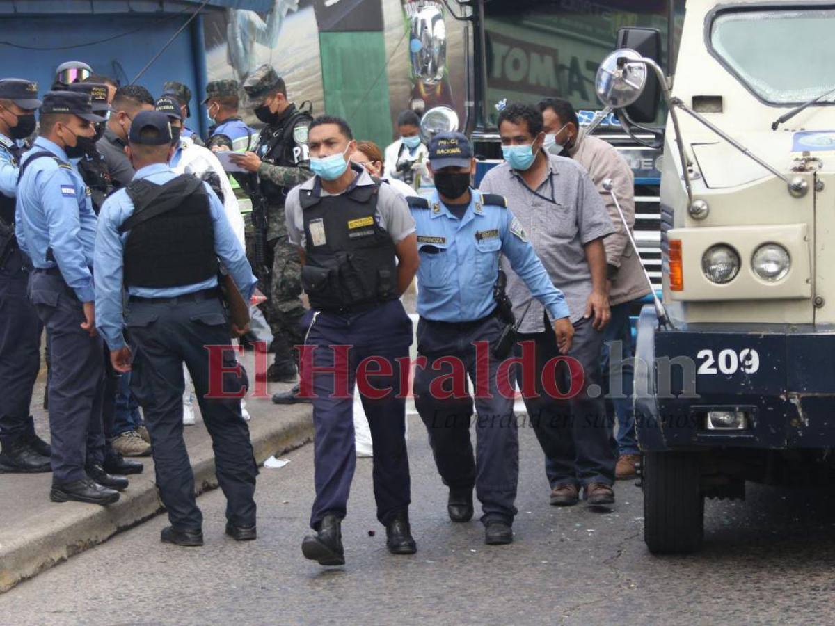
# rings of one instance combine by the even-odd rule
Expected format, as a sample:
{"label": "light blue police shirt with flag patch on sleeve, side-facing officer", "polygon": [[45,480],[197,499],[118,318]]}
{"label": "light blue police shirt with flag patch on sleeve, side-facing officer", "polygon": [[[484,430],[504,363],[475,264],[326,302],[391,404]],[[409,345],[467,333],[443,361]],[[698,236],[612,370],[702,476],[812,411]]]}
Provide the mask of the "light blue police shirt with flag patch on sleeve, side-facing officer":
{"label": "light blue police shirt with flag patch on sleeve, side-facing officer", "polygon": [[44,157],[23,173],[15,210],[18,245],[34,267],[57,266],[78,300],[92,302],[96,214],[89,189],[63,149],[44,137],[35,139],[21,164],[43,150],[63,163]]}

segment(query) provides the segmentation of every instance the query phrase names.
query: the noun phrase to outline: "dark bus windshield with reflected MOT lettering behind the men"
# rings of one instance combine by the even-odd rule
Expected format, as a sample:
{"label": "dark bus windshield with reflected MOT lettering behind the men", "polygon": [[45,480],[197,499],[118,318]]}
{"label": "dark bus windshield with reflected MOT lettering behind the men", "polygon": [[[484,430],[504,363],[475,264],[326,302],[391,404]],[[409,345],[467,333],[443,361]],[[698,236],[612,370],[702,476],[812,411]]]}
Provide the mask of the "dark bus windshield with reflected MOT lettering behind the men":
{"label": "dark bus windshield with reflected MOT lettering behind the men", "polygon": [[[595,94],[595,73],[615,49],[618,29],[658,28],[666,68],[668,24],[681,32],[683,2],[668,17],[669,0],[490,0],[484,3],[488,113],[496,121],[495,104],[537,103],[566,98],[580,124],[590,123],[603,106]],[[677,40],[677,37],[676,37]],[[615,129],[610,121],[609,130]],[[604,123],[600,130],[606,129]],[[620,129],[620,125],[617,125]]]}

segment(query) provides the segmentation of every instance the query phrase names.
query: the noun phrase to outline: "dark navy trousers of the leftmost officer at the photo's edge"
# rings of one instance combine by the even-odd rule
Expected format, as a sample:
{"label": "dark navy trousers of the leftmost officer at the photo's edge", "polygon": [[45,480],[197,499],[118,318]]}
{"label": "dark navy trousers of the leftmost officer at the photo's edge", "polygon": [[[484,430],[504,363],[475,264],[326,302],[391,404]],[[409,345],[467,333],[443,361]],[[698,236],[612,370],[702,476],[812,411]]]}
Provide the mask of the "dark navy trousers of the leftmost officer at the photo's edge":
{"label": "dark navy trousers of the leftmost officer at the photo's edge", "polygon": [[40,368],[41,321],[27,297],[28,272],[20,253],[0,270],[0,443],[34,433],[29,415]]}

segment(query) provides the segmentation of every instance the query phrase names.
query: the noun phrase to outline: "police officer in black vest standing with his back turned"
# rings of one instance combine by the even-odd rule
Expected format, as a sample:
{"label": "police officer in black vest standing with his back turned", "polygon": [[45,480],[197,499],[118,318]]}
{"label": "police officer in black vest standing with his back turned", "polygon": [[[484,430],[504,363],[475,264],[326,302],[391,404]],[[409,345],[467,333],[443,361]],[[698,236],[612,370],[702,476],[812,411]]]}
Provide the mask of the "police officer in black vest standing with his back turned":
{"label": "police officer in black vest standing with his back turned", "polygon": [[[183,441],[184,362],[215,447],[218,482],[228,501],[226,533],[245,541],[256,538],[257,468],[235,395],[247,380],[231,349],[218,288],[219,259],[245,300],[256,278],[220,200],[200,179],[170,169],[173,153],[168,117],[158,111],[137,114],[128,145],[134,180],[105,201],[99,216],[98,326],[114,368],[132,372],[131,391],[144,410],[159,495],[171,522],[162,541],[203,544],[203,516]],[[129,302],[124,316],[123,289]],[[123,326],[129,329],[130,347]],[[212,395],[205,346],[230,346],[222,363],[214,364],[222,365],[223,374],[222,389]]]}

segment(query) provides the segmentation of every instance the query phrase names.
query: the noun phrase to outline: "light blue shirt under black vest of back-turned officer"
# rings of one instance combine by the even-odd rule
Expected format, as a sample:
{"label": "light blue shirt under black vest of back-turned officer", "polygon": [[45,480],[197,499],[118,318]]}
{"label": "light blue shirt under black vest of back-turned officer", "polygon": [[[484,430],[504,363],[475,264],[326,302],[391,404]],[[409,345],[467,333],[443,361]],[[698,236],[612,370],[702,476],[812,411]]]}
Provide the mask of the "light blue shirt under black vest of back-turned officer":
{"label": "light blue shirt under black vest of back-turned officer", "polygon": [[[134,179],[149,179],[154,184],[165,184],[178,175],[168,164],[147,165],[134,175]],[[205,184],[205,183],[204,183]],[[215,225],[215,252],[229,270],[240,294],[249,300],[255,289],[256,277],[252,275],[250,263],[246,260],[244,248],[232,231],[223,204],[208,184],[205,189],[209,194],[211,220]],[[99,215],[99,229],[96,232],[96,251],[94,273],[96,275],[96,326],[107,341],[110,350],[119,350],[124,346],[122,327],[122,289],[124,267],[124,243],[129,233],[119,233],[119,226],[134,213],[134,203],[126,189],[119,189],[104,201]],[[217,286],[217,278],[194,285],[180,285],[164,289],[128,287],[128,295],[140,298],[174,298]]]}

